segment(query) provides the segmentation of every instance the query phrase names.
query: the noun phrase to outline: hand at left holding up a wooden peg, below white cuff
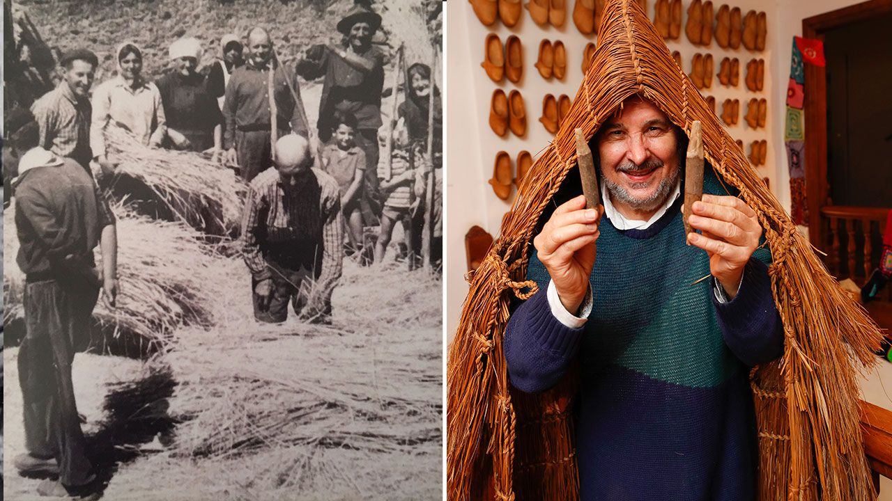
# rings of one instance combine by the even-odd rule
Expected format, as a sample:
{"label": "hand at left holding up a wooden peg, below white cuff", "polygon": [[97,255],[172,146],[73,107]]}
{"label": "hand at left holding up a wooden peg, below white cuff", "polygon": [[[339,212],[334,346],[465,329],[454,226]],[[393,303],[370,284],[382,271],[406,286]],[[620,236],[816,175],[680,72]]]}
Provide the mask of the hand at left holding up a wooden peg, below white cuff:
{"label": "hand at left holding up a wooden peg, below white cuff", "polygon": [[604,207],[585,209],[580,195],[555,209],[540,234],[533,239],[539,259],[555,283],[561,304],[575,314],[589,290],[595,265],[598,222]]}

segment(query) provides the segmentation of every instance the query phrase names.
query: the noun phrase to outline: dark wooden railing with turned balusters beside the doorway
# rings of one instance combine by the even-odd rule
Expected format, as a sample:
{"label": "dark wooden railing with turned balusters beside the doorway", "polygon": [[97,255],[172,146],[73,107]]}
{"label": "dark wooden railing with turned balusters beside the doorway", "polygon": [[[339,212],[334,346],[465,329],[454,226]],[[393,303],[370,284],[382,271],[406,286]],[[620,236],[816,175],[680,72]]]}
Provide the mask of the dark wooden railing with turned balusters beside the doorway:
{"label": "dark wooden railing with turned balusters beside the doorway", "polygon": [[[886,217],[888,215],[889,209],[882,208],[874,208],[874,207],[850,207],[845,205],[826,205],[821,208],[821,215],[823,219],[826,219],[825,228],[829,229],[830,232],[830,248],[826,249],[827,252],[827,267],[830,269],[830,274],[837,276],[838,278],[845,278],[845,276],[840,276],[840,249],[839,249],[839,237],[840,234],[847,234],[847,261],[848,261],[848,278],[851,278],[854,282],[859,285],[863,284],[863,279],[866,279],[871,275],[871,272],[877,265],[878,262],[874,262],[872,259],[873,252],[873,244],[874,242],[871,239],[872,227],[878,227],[880,233],[880,241],[882,240],[883,232],[886,229]],[[858,235],[858,228],[861,229],[861,239],[863,242],[863,269],[864,275],[859,278],[855,278],[855,263],[857,261],[857,255],[855,253],[856,248],[856,239]]]}

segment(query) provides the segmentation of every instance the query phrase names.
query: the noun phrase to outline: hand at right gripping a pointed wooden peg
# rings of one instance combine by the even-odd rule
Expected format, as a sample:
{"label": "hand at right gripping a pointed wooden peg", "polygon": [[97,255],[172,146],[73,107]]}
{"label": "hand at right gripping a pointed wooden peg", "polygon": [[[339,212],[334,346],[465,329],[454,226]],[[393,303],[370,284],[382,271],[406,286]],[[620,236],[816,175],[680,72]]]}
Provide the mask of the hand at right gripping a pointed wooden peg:
{"label": "hand at right gripping a pointed wooden peg", "polygon": [[756,211],[744,201],[732,196],[703,195],[694,202],[690,226],[703,234],[691,232],[692,245],[706,250],[709,271],[730,299],[737,295],[743,268],[759,246],[762,226]]}

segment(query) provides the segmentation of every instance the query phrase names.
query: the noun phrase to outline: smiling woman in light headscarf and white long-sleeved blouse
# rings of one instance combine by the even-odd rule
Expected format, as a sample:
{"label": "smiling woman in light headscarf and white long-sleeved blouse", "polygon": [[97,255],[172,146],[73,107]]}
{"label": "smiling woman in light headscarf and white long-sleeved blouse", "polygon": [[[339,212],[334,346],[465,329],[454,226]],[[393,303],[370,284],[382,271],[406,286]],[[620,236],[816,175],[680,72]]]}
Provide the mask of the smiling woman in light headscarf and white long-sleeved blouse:
{"label": "smiling woman in light headscarf and white long-sleeved blouse", "polygon": [[93,118],[90,122],[90,148],[103,172],[115,166],[105,156],[106,125],[127,128],[142,144],[157,148],[166,134],[167,119],[161,93],[143,78],[143,51],[133,42],[124,42],[115,52],[118,76],[106,80],[93,92]]}

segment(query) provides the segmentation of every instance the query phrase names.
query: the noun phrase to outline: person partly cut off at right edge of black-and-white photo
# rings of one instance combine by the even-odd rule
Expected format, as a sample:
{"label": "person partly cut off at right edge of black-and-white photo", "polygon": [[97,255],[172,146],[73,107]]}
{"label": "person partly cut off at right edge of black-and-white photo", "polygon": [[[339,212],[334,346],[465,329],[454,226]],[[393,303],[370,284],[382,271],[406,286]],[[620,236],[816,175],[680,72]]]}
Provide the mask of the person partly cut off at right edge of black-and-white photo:
{"label": "person partly cut off at right edge of black-and-white photo", "polygon": [[[440,89],[433,85],[431,68],[416,62],[406,71],[406,100],[397,108],[398,118],[405,119],[409,127],[409,140],[414,150],[427,152],[427,123],[430,118],[430,97],[434,93],[434,211],[431,227],[434,229],[431,238],[431,263],[442,259],[442,104]],[[423,169],[419,169],[419,172]],[[429,171],[427,171],[429,172]],[[425,174],[426,176],[426,174]],[[416,256],[421,255],[422,230],[425,226],[425,178],[418,179],[416,196],[418,209],[412,216],[411,250]]]}

